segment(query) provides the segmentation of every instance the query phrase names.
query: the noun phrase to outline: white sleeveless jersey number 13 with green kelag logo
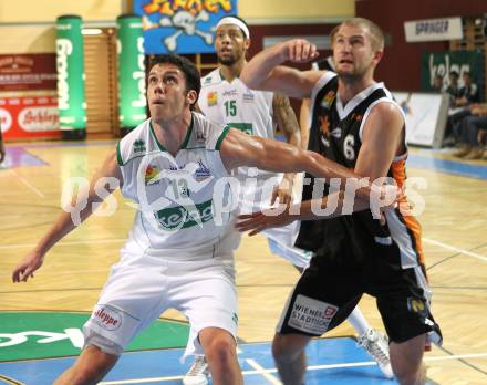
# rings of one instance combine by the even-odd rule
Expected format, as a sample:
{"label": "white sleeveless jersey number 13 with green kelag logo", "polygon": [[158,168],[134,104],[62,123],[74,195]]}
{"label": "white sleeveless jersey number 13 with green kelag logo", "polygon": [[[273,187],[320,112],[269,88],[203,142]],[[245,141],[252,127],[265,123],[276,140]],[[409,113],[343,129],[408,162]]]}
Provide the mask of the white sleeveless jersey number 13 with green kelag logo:
{"label": "white sleeveless jersey number 13 with green kelag logo", "polygon": [[236,199],[221,179],[229,174],[219,153],[228,129],[193,113],[175,157],[157,141],[151,118],[118,143],[122,194],[138,205],[126,252],[205,258],[235,232],[229,211]]}

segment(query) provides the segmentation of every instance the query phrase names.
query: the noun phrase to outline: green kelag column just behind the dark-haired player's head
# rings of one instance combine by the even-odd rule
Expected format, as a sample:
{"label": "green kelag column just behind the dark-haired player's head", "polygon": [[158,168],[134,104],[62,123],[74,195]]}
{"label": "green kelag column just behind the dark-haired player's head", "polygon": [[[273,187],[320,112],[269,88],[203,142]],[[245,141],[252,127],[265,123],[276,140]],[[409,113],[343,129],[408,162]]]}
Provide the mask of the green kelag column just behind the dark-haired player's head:
{"label": "green kelag column just behind the dark-haired player's head", "polygon": [[116,19],[118,30],[118,118],[122,136],[147,118],[144,37],[141,17]]}

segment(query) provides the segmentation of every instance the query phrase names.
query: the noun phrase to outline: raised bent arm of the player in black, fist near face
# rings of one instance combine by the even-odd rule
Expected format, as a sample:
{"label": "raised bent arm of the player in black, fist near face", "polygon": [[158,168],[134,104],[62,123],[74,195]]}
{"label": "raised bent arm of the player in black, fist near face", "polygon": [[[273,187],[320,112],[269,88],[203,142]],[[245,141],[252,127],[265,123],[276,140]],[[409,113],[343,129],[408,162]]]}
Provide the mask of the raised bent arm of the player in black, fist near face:
{"label": "raised bent arm of the player in black, fist near face", "polygon": [[309,97],[323,74],[320,71],[299,71],[280,64],[290,61],[304,63],[318,56],[317,46],[303,39],[293,39],[271,46],[244,67],[240,80],[253,90],[280,92],[292,97]]}

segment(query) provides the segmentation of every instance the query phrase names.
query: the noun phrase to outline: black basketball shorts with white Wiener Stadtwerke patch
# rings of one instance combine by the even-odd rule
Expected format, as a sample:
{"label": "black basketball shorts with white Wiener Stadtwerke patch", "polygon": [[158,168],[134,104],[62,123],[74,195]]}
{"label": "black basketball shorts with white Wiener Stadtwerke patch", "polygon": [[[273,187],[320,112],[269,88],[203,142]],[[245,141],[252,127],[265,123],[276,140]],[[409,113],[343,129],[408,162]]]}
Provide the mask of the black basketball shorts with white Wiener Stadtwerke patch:
{"label": "black basketball shorts with white Wiener Stadtwerke patch", "polygon": [[439,344],[424,267],[403,269],[394,242],[367,248],[365,258],[359,260],[350,242],[343,242],[340,253],[313,257],[290,294],[278,332],[322,335],[342,323],[367,293],[376,298],[391,341],[401,343],[431,333],[431,341]]}

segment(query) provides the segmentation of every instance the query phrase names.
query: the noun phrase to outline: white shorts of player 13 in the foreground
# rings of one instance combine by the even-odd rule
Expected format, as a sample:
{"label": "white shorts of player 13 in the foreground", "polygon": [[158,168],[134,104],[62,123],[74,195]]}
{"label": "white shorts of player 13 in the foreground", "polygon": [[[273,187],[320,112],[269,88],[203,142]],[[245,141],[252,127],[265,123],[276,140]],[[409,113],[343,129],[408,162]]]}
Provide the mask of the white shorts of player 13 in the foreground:
{"label": "white shorts of player 13 in the foreground", "polygon": [[237,291],[231,256],[216,254],[204,260],[146,256],[143,261],[112,267],[101,298],[84,324],[85,337],[100,334],[125,348],[160,313],[176,309],[190,324],[184,357],[203,353],[198,333],[205,327],[224,329],[236,339]]}

